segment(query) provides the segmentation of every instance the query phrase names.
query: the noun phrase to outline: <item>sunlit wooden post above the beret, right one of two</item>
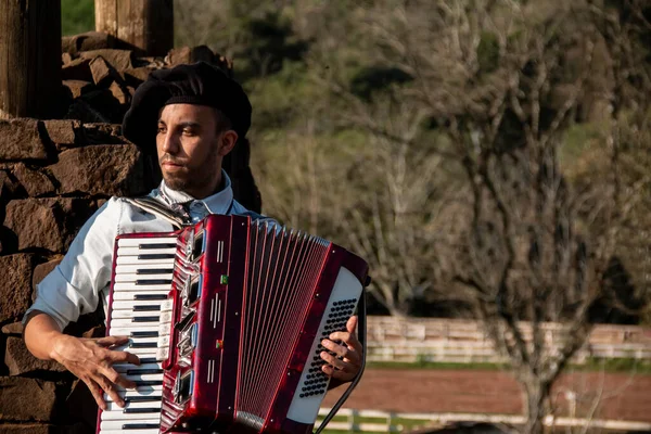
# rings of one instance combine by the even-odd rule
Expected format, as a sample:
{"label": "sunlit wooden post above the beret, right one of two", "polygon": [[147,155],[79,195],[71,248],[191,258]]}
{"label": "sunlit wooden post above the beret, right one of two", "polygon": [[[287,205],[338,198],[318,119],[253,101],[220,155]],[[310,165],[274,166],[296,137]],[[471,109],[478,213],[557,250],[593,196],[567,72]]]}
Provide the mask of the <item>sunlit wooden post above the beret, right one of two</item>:
{"label": "sunlit wooden post above the beret, right one of two", "polygon": [[173,0],[95,0],[95,30],[144,55],[174,47]]}

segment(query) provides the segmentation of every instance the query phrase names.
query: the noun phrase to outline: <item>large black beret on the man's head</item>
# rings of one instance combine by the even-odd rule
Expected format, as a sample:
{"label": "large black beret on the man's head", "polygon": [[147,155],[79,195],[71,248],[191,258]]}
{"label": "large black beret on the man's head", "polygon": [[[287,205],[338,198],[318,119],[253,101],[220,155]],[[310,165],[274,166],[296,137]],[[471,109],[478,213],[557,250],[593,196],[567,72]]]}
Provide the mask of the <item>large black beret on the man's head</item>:
{"label": "large black beret on the man's head", "polygon": [[158,114],[168,104],[218,108],[241,139],[251,126],[251,103],[242,86],[218,67],[199,62],[152,72],[133,94],[123,120],[124,137],[144,151],[154,151]]}

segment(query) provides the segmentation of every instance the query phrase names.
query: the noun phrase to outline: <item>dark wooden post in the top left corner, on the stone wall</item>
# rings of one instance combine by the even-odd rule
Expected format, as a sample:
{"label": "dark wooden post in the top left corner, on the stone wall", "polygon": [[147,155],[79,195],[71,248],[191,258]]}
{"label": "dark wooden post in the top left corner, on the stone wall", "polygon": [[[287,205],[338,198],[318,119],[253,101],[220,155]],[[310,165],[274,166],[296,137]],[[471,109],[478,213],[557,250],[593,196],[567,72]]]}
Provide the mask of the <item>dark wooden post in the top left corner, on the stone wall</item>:
{"label": "dark wooden post in the top left corner, on the stone wall", "polygon": [[0,118],[48,118],[61,100],[61,0],[0,0]]}

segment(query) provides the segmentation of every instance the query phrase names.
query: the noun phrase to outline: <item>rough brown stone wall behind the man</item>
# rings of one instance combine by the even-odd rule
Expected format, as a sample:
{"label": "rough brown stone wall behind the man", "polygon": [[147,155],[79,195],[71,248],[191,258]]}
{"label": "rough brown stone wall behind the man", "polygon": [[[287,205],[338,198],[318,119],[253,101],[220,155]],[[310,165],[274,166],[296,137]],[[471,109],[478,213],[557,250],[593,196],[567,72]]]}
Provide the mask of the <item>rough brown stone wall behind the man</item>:
{"label": "rough brown stone wall behind the man", "polygon": [[[21,319],[36,284],[110,196],[141,195],[158,183],[154,156],[119,136],[135,89],[151,71],[178,63],[231,67],[206,47],[164,59],[114,47],[104,34],[64,38],[62,119],[0,120],[0,433],[94,433],[97,406],[85,384],[28,353]],[[248,143],[238,146],[225,168],[235,197],[259,210]],[[99,312],[85,315],[66,332],[101,336],[102,322]]]}

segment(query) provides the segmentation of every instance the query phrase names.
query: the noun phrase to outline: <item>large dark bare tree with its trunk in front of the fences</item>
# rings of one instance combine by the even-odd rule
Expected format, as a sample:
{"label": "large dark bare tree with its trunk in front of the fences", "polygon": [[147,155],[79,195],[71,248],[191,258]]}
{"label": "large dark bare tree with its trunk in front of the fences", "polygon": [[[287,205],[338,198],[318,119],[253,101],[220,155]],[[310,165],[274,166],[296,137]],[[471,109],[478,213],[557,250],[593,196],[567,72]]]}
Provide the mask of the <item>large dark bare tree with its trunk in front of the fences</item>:
{"label": "large dark bare tree with its trunk in front of the fences", "polygon": [[[357,15],[375,66],[410,77],[399,99],[435,122],[449,139],[436,151],[465,175],[461,235],[423,238],[438,243],[430,254],[455,259],[431,281],[470,305],[510,360],[525,392],[528,433],[542,432],[551,385],[586,342],[591,309],[612,291],[612,259],[648,194],[649,177],[634,171],[634,155],[649,143],[625,139],[649,114],[647,97],[629,89],[633,69],[649,89],[649,65],[635,64],[631,47],[631,33],[648,25],[640,4],[627,4],[637,27],[589,1],[386,0]],[[331,86],[346,98],[345,85],[331,79]],[[413,136],[383,125],[385,117],[363,117],[356,104],[346,105],[343,117],[390,148],[416,145]],[[567,130],[584,112],[601,123],[591,152],[599,163],[595,182],[569,177],[577,162],[563,159]],[[400,164],[399,152],[391,157]],[[409,168],[422,174],[417,164]],[[399,174],[396,166],[386,170]],[[383,239],[369,226],[379,225],[352,232],[381,250]],[[393,267],[406,265],[391,264],[390,275],[397,273]],[[640,292],[648,283],[639,282]],[[550,334],[549,321],[562,327]]]}

